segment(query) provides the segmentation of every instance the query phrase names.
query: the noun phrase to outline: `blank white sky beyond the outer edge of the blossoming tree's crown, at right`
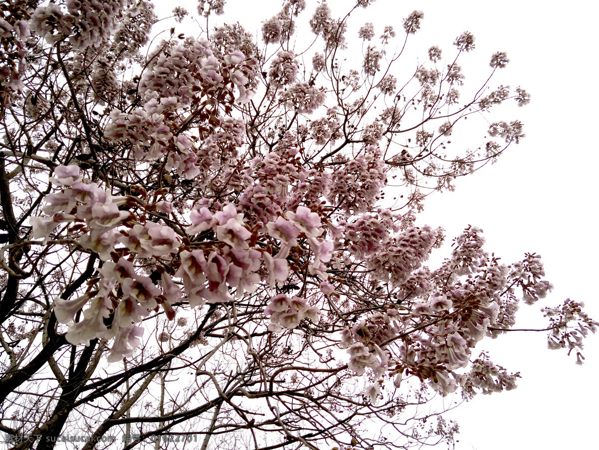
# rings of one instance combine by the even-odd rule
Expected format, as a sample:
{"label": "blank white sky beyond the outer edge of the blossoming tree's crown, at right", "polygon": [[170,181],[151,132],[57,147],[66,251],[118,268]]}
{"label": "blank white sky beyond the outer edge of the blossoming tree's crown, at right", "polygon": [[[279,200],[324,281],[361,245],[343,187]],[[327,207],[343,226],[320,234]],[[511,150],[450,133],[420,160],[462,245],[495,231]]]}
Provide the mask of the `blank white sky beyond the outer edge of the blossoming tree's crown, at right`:
{"label": "blank white sky beyond the outer edge of the blossoming tree's crown, at right", "polygon": [[[177,4],[155,3],[159,17]],[[300,16],[304,21],[315,7],[307,3]],[[334,16],[351,3],[329,1]],[[195,11],[192,0],[180,4]],[[223,19],[255,33],[260,21],[281,5],[282,1],[229,0]],[[482,80],[491,54],[502,50],[511,62],[491,86],[522,86],[532,96],[530,105],[506,115],[524,123],[527,138],[512,145],[495,165],[459,180],[455,193],[428,197],[420,221],[443,226],[448,241],[468,224],[479,226],[485,231],[486,250],[505,263],[521,259],[527,251],[541,254],[555,290],[535,306],[522,305],[518,327],[544,327],[542,317],[535,318],[541,316],[539,308],[567,297],[584,300],[586,311],[599,319],[592,288],[599,253],[594,236],[599,156],[592,136],[599,103],[594,86],[599,8],[582,1],[543,2],[539,7],[522,0],[378,0],[354,16],[362,23],[373,22],[377,32],[385,25],[401,31],[403,18],[415,9],[424,11],[425,19],[409,46],[420,49],[421,61],[430,45],[451,51],[453,39],[468,30],[476,37],[476,50],[461,61],[466,83]],[[415,60],[404,63],[416,67]],[[495,363],[520,371],[522,379],[515,391],[477,396],[447,413],[446,418],[461,425],[457,449],[597,448],[599,337],[586,340],[582,367],[565,351],[549,351],[546,333],[513,332],[486,343],[485,349]]]}

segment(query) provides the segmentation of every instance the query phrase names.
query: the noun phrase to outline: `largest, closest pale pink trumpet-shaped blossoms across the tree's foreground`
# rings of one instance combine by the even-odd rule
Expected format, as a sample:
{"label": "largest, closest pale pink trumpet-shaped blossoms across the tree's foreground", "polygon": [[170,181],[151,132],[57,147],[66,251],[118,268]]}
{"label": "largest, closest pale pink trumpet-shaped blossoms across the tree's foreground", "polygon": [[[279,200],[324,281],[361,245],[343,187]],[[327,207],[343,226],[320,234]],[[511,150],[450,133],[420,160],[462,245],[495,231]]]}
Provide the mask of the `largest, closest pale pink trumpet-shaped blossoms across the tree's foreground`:
{"label": "largest, closest pale pink trumpet-shaped blossoms across the tree's foreground", "polygon": [[[207,206],[198,206],[190,214],[191,224],[186,228],[188,235],[210,230],[222,245],[212,250],[186,247],[181,250],[181,239],[171,227],[151,221],[140,223],[132,212],[134,209],[119,209],[125,203],[129,208],[139,206],[138,200],[131,203],[132,198],[113,197],[95,183],[83,183],[78,166],[58,166],[54,175],[50,181],[62,190],[46,197],[43,212],[50,217],[31,219],[34,238],[47,239],[62,222],[80,223],[83,227],[78,228],[79,244],[95,251],[105,261],[95,295],[57,300],[59,321],[69,324],[69,342],[85,343],[96,337],[115,338],[112,349],[115,356],[111,358],[129,355],[137,345],[140,332],[135,324],[158,304],[162,304],[169,318],[174,318],[171,305],[181,297],[186,297],[190,306],[200,306],[230,302],[233,296],[253,293],[260,282],[258,270],[263,261],[271,288],[285,281],[289,274],[286,256],[298,246],[300,234],[307,239],[312,254],[309,272],[323,280],[323,291],[332,293],[325,264],[331,260],[333,244],[319,237],[323,234],[320,216],[305,206],[298,206],[295,212],[287,211],[288,219],[280,215],[274,218],[274,214],[264,216],[267,218],[265,232],[279,242],[280,250],[274,257],[250,247],[252,232],[244,221],[244,213],[232,203],[220,205],[217,212]],[[173,211],[172,205],[164,201],[152,208],[167,215]],[[268,221],[268,217],[273,218]],[[119,248],[118,244],[124,247]],[[123,251],[129,254],[129,259],[118,256]],[[175,272],[160,270],[162,291],[148,276],[137,273],[134,266],[137,259],[159,260],[161,257],[179,261]],[[173,276],[180,282],[174,282]],[[182,290],[178,284],[182,284]],[[117,290],[122,291],[122,296],[116,294]],[[276,299],[280,300],[280,297]],[[72,323],[74,313],[88,302],[84,320]],[[271,304],[275,308],[271,311],[277,313],[271,317],[273,330],[279,325],[293,328],[303,318],[316,320],[318,313],[317,308],[308,306],[305,299],[299,297],[290,299],[285,311],[276,309],[280,305],[275,305],[279,303]],[[107,328],[103,319],[109,316],[114,319]]]}

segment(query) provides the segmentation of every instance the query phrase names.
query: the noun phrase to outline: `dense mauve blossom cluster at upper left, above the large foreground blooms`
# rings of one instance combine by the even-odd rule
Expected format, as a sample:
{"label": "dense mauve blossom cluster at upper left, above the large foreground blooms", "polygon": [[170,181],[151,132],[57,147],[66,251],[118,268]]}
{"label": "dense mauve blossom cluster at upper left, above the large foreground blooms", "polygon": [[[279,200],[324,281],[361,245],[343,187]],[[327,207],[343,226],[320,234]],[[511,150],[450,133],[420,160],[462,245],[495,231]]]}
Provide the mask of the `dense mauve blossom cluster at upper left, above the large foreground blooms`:
{"label": "dense mauve blossom cluster at upper left, above the large foreground blooms", "polygon": [[135,159],[154,161],[166,155],[165,168],[176,169],[189,180],[210,169],[214,159],[220,162],[224,157],[232,162],[236,148],[243,143],[244,126],[238,120],[214,118],[199,149],[173,122],[180,121],[177,113],[181,108],[201,101],[218,103],[226,92],[232,97],[232,86],[239,92],[236,100],[247,103],[255,84],[253,65],[255,61],[247,60],[239,50],[224,56],[213,53],[205,40],[165,45],[140,80],[139,93],[145,103],[129,113],[113,110],[105,137],[132,142]]}

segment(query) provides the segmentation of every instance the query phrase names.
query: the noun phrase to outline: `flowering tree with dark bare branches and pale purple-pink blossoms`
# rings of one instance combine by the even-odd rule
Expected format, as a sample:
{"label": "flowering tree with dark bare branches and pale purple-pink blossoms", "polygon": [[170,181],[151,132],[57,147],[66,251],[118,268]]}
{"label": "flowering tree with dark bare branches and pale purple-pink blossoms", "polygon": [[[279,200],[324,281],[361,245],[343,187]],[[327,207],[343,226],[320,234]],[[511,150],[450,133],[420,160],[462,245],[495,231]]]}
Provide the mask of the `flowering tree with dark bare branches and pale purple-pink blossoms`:
{"label": "flowering tree with dark bare branches and pale purple-pink blossoms", "polygon": [[[498,120],[450,153],[468,117],[528,102],[489,89],[506,54],[468,93],[465,32],[398,83],[422,13],[374,39],[304,7],[286,2],[258,41],[214,28],[223,2],[201,1],[201,38],[175,25],[146,54],[147,2],[2,5],[1,429],[16,448],[452,442],[422,405],[515,387],[474,347],[552,288],[539,256],[501,264],[468,227],[432,269],[442,230],[414,224],[428,192],[524,136]],[[545,314],[550,346],[582,362],[597,323],[569,300]]]}

